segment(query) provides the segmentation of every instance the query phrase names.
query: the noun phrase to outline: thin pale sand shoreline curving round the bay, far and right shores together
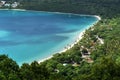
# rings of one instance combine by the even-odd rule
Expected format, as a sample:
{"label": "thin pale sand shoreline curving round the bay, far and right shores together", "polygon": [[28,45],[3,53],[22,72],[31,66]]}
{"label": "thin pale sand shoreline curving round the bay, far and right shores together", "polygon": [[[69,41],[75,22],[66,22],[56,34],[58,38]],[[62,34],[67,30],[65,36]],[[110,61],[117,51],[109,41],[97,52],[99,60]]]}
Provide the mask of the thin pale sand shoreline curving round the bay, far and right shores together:
{"label": "thin pale sand shoreline curving round the bay, far and right shores together", "polygon": [[[0,10],[15,10],[15,11],[34,11],[34,10],[25,10],[25,9],[0,9]],[[90,25],[87,29],[89,29],[90,27],[93,27],[97,22],[99,22],[101,20],[101,17],[100,16],[97,16],[97,15],[85,15],[85,14],[74,14],[74,13],[63,13],[63,12],[48,12],[48,11],[34,11],[34,12],[47,12],[47,13],[54,13],[54,14],[70,14],[70,15],[77,15],[77,16],[92,16],[92,17],[95,17],[97,18],[97,21]],[[78,34],[78,37],[77,39],[75,40],[74,43],[70,44],[69,46],[67,46],[67,48],[64,48],[66,46],[63,46],[63,50],[61,50],[60,52],[57,52],[57,53],[63,53],[63,52],[66,52],[67,50],[71,49],[72,47],[74,47],[75,44],[77,44],[83,37],[84,33],[85,33],[86,29],[84,29],[83,31],[81,31],[79,34]],[[37,60],[39,63],[43,62],[43,61],[46,61],[50,58],[53,57],[53,54],[55,53],[52,53],[51,56],[49,57],[46,57],[44,59],[41,59],[41,60]]]}

